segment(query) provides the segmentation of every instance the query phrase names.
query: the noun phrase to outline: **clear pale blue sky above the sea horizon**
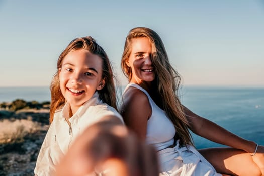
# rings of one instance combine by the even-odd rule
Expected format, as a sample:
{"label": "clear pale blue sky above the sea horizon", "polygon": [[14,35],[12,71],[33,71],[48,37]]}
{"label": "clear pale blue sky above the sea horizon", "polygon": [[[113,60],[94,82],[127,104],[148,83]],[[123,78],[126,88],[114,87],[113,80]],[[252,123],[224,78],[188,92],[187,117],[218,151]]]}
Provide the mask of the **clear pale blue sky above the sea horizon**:
{"label": "clear pale blue sky above the sea horizon", "polygon": [[184,85],[264,86],[264,1],[1,1],[0,86],[49,86],[68,43],[92,36],[121,83],[125,37],[149,27]]}

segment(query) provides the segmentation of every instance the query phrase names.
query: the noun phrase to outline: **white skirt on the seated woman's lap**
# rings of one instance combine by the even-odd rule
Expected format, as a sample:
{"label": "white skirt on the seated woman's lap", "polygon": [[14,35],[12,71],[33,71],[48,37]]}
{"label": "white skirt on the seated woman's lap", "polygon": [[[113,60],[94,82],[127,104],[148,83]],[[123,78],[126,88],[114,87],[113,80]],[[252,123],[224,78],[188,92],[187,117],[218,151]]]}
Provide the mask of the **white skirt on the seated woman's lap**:
{"label": "white skirt on the seated woman's lap", "polygon": [[216,173],[214,167],[191,145],[166,148],[157,152],[161,172],[159,176],[211,176]]}

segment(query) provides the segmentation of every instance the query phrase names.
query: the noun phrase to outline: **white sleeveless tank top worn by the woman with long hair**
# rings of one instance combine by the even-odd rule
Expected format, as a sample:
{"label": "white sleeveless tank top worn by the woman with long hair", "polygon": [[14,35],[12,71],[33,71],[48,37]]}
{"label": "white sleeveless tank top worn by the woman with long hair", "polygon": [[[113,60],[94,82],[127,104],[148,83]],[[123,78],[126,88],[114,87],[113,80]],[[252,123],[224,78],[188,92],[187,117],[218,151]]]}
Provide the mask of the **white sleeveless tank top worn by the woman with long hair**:
{"label": "white sleeveless tank top worn by the woman with long hair", "polygon": [[129,83],[124,92],[129,87],[135,87],[144,92],[152,109],[152,114],[147,122],[147,144],[153,145],[157,150],[162,150],[174,143],[175,128],[169,118],[166,116],[165,111],[160,109],[156,103],[152,100],[146,90],[140,87],[138,84]]}

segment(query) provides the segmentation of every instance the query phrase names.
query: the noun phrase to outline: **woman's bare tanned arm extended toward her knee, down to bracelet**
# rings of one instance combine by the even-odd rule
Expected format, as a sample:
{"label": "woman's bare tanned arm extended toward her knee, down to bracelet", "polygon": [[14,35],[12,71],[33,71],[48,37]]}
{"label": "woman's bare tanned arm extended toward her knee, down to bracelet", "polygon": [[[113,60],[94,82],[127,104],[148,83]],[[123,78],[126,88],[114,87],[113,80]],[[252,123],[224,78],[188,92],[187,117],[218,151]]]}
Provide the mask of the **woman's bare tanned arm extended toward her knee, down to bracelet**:
{"label": "woman's bare tanned arm extended toward her knee, down to bracelet", "polygon": [[190,123],[190,129],[197,135],[209,139],[219,144],[227,145],[233,148],[244,150],[248,153],[254,153],[256,143],[245,140],[216,123],[207,120],[184,107],[186,117]]}

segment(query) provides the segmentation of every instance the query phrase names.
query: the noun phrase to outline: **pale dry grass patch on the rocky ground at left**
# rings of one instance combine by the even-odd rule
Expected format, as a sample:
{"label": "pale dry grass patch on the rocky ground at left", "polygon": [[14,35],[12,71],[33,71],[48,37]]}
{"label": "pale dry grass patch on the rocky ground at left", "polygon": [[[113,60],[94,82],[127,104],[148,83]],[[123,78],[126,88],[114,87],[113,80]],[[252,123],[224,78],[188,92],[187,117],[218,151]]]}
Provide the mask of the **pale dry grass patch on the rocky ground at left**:
{"label": "pale dry grass patch on the rocky ground at left", "polygon": [[41,128],[37,122],[28,119],[0,121],[0,144],[23,142],[27,134],[34,133]]}

